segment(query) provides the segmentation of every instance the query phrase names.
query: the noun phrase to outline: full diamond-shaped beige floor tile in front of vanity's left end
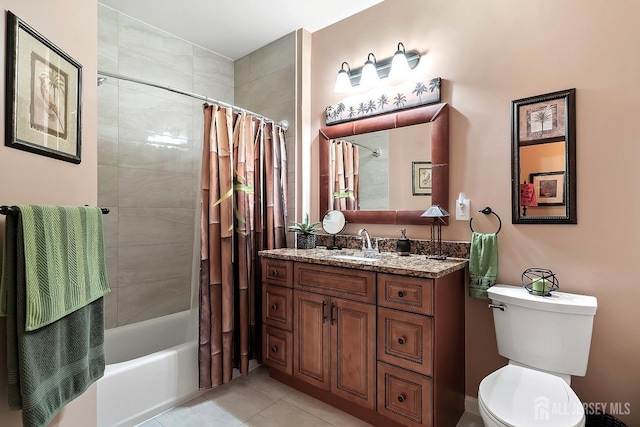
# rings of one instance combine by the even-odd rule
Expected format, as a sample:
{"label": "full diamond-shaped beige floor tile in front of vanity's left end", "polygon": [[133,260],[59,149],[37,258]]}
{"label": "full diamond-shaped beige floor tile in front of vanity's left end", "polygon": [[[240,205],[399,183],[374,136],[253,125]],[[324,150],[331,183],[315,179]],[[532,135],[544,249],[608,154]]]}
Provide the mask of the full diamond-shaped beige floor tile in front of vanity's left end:
{"label": "full diamond-shaped beige floor tile in front of vanity's left end", "polygon": [[279,398],[251,384],[235,379],[202,395],[237,419],[246,421]]}

